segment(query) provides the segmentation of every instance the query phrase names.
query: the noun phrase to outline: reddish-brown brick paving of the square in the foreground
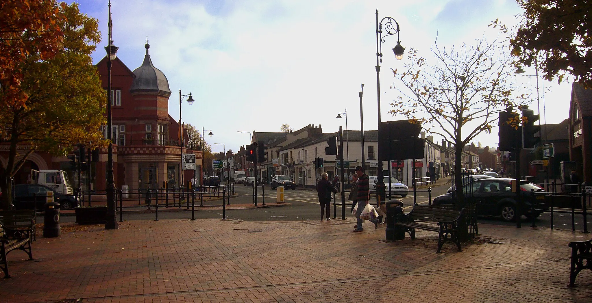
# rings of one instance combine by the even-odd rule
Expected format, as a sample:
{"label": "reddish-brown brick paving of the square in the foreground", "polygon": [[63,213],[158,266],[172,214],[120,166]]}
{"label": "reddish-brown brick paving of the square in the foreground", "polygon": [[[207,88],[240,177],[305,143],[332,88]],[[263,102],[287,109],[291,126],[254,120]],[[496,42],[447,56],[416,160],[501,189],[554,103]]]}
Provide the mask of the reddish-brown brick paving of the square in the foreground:
{"label": "reddish-brown brick paving of the square in the foreground", "polygon": [[590,234],[481,224],[482,244],[436,254],[435,233],[392,242],[353,224],[89,225],[38,237],[35,261],[10,253],[0,302],[592,302],[592,272],[568,287],[567,243]]}

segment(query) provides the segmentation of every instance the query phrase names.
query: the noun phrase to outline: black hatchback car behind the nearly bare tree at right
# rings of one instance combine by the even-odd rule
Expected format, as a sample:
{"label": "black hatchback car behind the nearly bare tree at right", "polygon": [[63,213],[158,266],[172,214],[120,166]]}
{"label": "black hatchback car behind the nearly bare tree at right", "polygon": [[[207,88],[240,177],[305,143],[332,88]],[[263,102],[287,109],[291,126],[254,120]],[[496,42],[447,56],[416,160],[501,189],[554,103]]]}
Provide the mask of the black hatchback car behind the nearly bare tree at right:
{"label": "black hatchback car behind the nearly bare tree at right", "polygon": [[[516,220],[516,192],[512,192],[513,179],[509,178],[490,178],[474,180],[463,186],[462,190],[469,201],[477,201],[477,215],[495,215],[504,221]],[[531,198],[531,189],[533,197]],[[548,209],[545,202],[545,190],[530,181],[520,180],[520,195],[522,196],[522,214],[527,218],[539,217],[541,209]],[[437,196],[433,204],[454,204],[456,193],[448,192]],[[532,213],[532,204],[535,201],[535,213]]]}

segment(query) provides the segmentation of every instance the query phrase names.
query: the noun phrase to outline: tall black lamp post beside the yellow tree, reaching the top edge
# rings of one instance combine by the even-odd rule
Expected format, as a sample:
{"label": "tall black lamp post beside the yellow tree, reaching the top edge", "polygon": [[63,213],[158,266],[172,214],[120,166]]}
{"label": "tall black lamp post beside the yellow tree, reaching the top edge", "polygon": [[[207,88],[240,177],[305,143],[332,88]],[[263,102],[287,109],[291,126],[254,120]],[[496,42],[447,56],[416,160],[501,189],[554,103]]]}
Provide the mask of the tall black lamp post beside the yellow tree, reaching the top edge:
{"label": "tall black lamp post beside the yellow tree, reaching the top edge", "polygon": [[107,51],[107,139],[109,140],[108,157],[107,157],[107,216],[105,217],[105,229],[116,230],[119,228],[117,219],[115,219],[115,183],[113,180],[113,130],[111,120],[111,61],[117,57],[117,47],[113,45],[111,39],[111,29],[113,23],[111,21],[111,1],[109,1],[109,45],[105,47]]}

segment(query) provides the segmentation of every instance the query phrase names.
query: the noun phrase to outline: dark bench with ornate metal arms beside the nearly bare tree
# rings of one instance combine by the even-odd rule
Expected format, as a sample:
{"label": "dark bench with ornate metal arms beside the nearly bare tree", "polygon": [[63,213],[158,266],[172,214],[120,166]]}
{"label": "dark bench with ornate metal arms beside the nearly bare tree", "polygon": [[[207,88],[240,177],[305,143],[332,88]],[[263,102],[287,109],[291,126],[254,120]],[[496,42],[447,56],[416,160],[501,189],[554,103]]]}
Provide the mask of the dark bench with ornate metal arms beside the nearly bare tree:
{"label": "dark bench with ornate metal arms beside the nearly bare tree", "polygon": [[[465,209],[455,211],[452,209],[424,207],[413,205],[413,209],[404,215],[395,216],[395,228],[404,228],[411,240],[415,240],[415,229],[436,231],[439,233],[438,250],[440,253],[442,245],[450,240],[456,243],[458,251],[462,252],[461,241],[458,240],[458,223],[461,220]],[[436,223],[436,224],[433,224]]]}

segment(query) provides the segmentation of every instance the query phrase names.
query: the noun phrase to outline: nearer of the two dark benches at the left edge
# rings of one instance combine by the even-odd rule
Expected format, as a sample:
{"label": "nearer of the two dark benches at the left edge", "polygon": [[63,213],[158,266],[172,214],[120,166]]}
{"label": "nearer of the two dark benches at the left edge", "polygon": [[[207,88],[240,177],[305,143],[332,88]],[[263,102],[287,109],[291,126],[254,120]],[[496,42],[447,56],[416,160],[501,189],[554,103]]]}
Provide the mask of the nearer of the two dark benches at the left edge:
{"label": "nearer of the two dark benches at the left edge", "polygon": [[31,252],[31,233],[33,230],[24,229],[12,230],[7,228],[0,222],[0,269],[10,278],[8,274],[8,260],[6,255],[12,250],[19,249],[29,255],[29,259],[33,260],[33,253]]}

